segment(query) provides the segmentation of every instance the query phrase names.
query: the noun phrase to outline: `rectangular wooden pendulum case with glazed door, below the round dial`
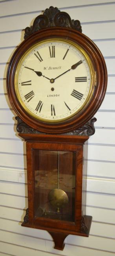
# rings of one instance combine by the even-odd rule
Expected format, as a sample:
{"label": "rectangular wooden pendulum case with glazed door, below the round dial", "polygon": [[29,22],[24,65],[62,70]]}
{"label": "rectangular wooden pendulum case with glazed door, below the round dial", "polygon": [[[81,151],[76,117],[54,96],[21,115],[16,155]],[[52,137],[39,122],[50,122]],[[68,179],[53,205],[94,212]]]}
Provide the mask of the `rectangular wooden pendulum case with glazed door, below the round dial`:
{"label": "rectangular wooden pendulum case with glazed door, below the round dial", "polygon": [[[69,234],[88,236],[85,141],[88,136],[20,134],[26,139],[28,211],[22,226],[47,230],[55,248]],[[85,164],[84,164],[85,163]]]}

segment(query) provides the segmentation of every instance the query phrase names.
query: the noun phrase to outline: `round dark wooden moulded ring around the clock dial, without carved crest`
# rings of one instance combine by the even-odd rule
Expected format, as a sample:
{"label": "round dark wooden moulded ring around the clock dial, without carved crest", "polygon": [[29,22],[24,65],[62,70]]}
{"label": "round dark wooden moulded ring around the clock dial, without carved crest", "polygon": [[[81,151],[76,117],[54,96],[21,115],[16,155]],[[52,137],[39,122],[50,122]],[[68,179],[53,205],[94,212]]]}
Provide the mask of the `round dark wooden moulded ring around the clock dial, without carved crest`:
{"label": "round dark wooden moulded ring around the clock dial, without carved crest", "polygon": [[[95,85],[93,96],[86,108],[84,108],[76,115],[67,120],[53,124],[50,122],[39,121],[38,119],[30,116],[22,108],[15,93],[14,79],[16,67],[24,53],[29,50],[29,48],[35,43],[54,37],[71,40],[74,43],[80,45],[87,52],[89,58],[91,59],[91,62],[93,63],[94,70],[97,74],[97,82]],[[7,93],[14,111],[16,112],[18,117],[20,117],[20,119],[22,119],[22,121],[24,121],[27,125],[42,133],[62,134],[82,127],[93,117],[93,115],[99,109],[106,93],[106,86],[107,69],[100,50],[93,43],[93,41],[86,37],[86,35],[72,28],[46,28],[29,36],[16,49],[7,70]]]}

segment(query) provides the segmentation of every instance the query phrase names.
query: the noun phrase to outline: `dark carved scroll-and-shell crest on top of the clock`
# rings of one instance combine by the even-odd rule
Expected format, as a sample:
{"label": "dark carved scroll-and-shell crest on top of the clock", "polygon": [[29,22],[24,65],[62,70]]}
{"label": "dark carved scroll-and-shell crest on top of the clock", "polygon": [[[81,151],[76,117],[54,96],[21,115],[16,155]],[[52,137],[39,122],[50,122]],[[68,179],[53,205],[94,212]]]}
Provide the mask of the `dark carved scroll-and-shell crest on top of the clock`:
{"label": "dark carved scroll-and-shell crest on top of the clock", "polygon": [[47,8],[44,11],[43,15],[37,16],[33,22],[33,26],[25,29],[24,39],[38,30],[55,26],[74,28],[82,32],[79,20],[71,20],[68,13],[58,10],[57,7],[50,6],[49,9]]}

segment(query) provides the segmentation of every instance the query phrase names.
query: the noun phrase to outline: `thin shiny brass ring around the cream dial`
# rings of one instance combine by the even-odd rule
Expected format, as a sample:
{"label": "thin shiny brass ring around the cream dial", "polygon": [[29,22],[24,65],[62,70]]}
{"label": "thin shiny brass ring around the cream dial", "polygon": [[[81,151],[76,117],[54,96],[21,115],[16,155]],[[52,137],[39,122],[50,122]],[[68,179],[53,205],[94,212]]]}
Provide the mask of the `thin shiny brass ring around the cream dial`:
{"label": "thin shiny brass ring around the cream dial", "polygon": [[[24,59],[29,55],[29,53],[31,51],[33,51],[37,46],[40,46],[42,45],[43,43],[51,43],[51,42],[64,42],[64,43],[67,43],[68,45],[71,45],[71,46],[74,46],[75,48],[77,48],[77,50],[79,50],[82,55],[84,56],[87,64],[88,64],[88,67],[89,67],[89,71],[90,71],[90,76],[91,76],[91,83],[90,83],[90,89],[89,89],[89,93],[88,93],[88,96],[87,96],[87,99],[86,101],[84,102],[84,104],[82,104],[82,106],[75,112],[73,113],[73,115],[70,115],[68,117],[65,117],[63,119],[60,119],[60,120],[49,120],[49,119],[44,119],[42,117],[39,117],[37,115],[35,115],[34,113],[32,113],[28,108],[27,106],[24,104],[21,96],[20,96],[20,91],[18,89],[18,76],[19,76],[19,72],[20,72],[20,68],[22,66],[22,63],[24,62]],[[22,108],[26,111],[27,114],[29,114],[30,116],[34,117],[35,119],[37,120],[40,120],[40,121],[43,121],[43,122],[48,122],[48,123],[57,123],[57,122],[62,122],[62,121],[66,121],[68,119],[71,119],[71,117],[75,116],[76,114],[79,114],[80,111],[82,109],[85,109],[91,98],[92,98],[92,95],[93,95],[93,92],[94,92],[94,88],[95,88],[95,70],[94,70],[94,67],[93,67],[93,63],[91,62],[91,59],[89,58],[89,55],[87,54],[87,52],[80,46],[78,45],[77,43],[71,41],[70,39],[69,40],[66,40],[66,39],[62,39],[60,37],[55,38],[53,37],[52,39],[46,39],[46,40],[42,40],[38,43],[35,43],[33,46],[30,47],[29,50],[27,50],[24,55],[22,56],[22,58],[20,59],[17,67],[16,67],[16,71],[15,71],[15,79],[14,79],[14,84],[15,84],[15,93],[16,93],[16,96],[18,98],[18,101],[20,102],[20,105],[22,106]]]}

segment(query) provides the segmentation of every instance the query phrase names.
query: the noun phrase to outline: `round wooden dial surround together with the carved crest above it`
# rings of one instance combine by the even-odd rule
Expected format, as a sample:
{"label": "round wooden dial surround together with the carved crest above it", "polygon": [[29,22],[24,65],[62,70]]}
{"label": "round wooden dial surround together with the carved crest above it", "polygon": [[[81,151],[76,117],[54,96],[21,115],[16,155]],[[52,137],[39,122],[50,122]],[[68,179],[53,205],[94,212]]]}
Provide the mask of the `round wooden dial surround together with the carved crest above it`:
{"label": "round wooden dial surround together with the carved crest above it", "polygon": [[[106,92],[107,70],[102,54],[97,46],[86,35],[81,33],[81,26],[78,20],[71,20],[65,12],[57,8],[46,9],[44,15],[39,15],[31,28],[25,29],[25,41],[16,49],[7,70],[7,93],[9,100],[18,117],[31,128],[48,134],[63,134],[82,127],[97,112]],[[17,99],[15,93],[15,72],[22,56],[33,45],[51,38],[65,39],[81,46],[88,54],[95,70],[95,84],[91,99],[78,113],[59,122],[40,121],[27,113]]]}

